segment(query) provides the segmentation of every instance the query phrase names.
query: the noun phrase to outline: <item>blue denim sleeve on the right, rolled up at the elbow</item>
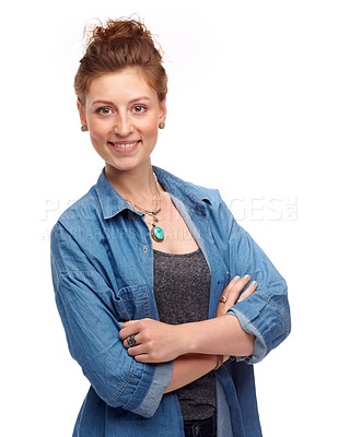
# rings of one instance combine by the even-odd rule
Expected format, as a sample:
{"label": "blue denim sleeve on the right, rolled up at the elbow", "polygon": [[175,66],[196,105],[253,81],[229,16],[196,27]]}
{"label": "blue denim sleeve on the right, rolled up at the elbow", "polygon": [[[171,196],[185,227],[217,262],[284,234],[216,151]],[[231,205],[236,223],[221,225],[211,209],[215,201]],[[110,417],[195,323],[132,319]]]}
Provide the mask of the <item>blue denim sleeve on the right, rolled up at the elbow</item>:
{"label": "blue denim sleeve on the right, rolled up at the elbow", "polygon": [[245,359],[250,364],[258,363],[291,331],[287,283],[249,234],[236,223],[222,200],[218,221],[225,236],[223,250],[230,275],[247,273],[258,282],[253,295],[228,311],[228,315],[237,317],[244,331],[255,335],[254,353]]}

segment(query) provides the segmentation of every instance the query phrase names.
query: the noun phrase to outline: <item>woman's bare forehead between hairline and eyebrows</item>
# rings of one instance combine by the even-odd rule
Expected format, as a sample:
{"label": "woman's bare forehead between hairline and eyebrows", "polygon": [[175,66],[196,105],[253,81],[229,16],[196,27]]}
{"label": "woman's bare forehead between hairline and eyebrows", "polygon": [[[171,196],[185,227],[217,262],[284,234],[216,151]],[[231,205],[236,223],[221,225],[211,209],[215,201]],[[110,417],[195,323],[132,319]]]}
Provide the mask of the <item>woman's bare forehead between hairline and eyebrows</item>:
{"label": "woman's bare forehead between hairline and eyebrows", "polygon": [[93,78],[88,86],[86,101],[112,99],[129,102],[139,96],[158,99],[156,92],[149,86],[142,72],[126,69]]}

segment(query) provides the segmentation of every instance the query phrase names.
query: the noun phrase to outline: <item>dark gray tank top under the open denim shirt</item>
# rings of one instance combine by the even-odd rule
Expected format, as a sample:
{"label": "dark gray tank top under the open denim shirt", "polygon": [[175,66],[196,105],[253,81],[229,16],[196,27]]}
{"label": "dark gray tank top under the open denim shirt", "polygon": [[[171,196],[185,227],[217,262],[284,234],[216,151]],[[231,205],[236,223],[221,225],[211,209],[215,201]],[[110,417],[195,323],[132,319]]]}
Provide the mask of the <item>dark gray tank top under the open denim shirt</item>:
{"label": "dark gray tank top under the open denim shirt", "polygon": [[[179,324],[208,319],[211,275],[200,249],[154,253],[154,295],[160,320]],[[215,410],[214,376],[209,373],[176,390],[184,421],[210,417]]]}

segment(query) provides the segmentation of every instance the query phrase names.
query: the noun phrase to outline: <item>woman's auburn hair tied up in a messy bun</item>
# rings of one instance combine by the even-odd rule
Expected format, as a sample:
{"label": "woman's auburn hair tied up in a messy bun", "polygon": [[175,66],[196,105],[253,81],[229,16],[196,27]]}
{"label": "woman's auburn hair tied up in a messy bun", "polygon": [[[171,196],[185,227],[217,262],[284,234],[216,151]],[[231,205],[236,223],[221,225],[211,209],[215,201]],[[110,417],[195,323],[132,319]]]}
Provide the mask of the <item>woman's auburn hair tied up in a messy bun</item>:
{"label": "woman's auburn hair tied up in a messy bun", "polygon": [[105,24],[86,28],[88,40],[83,58],[74,79],[74,90],[81,105],[90,81],[105,73],[127,68],[139,69],[149,86],[165,99],[167,75],[162,66],[162,55],[155,47],[145,25],[131,19],[108,20]]}

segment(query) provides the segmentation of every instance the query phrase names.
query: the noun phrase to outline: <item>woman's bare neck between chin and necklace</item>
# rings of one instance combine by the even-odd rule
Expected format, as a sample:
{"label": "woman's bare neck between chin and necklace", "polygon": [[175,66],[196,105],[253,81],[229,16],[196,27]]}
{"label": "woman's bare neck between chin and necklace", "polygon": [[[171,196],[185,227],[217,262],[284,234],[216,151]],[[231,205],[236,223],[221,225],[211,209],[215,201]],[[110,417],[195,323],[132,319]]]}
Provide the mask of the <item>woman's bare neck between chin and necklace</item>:
{"label": "woman's bare neck between chin and necklace", "polygon": [[144,208],[153,205],[156,200],[156,182],[150,161],[130,170],[118,170],[106,165],[105,175],[114,189],[126,200]]}

